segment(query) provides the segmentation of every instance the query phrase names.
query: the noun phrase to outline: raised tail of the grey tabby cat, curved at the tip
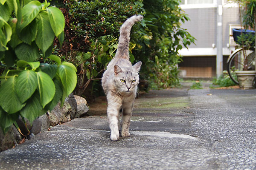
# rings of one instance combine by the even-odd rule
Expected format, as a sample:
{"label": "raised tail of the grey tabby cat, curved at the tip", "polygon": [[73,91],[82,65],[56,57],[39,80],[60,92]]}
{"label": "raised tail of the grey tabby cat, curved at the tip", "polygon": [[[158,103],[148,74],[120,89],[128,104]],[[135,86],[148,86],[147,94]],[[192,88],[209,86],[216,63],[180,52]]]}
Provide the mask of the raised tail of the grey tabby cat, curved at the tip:
{"label": "raised tail of the grey tabby cat, curved at the tip", "polygon": [[129,60],[129,42],[130,42],[130,32],[131,27],[134,23],[141,21],[143,19],[142,15],[134,15],[123,23],[120,28],[119,43],[117,46],[116,56],[118,58],[125,58]]}

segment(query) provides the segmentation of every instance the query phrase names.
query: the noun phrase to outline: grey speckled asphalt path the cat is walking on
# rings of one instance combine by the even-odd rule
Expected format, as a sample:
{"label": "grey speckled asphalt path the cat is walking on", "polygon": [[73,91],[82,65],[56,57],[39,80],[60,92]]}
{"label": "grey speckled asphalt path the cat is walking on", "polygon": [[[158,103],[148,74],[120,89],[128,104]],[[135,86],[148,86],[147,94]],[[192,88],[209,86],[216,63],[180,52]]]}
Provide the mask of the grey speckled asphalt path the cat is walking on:
{"label": "grey speckled asphalt path the cat is walking on", "polygon": [[256,90],[150,91],[131,137],[112,142],[105,111],[0,153],[0,170],[254,170]]}

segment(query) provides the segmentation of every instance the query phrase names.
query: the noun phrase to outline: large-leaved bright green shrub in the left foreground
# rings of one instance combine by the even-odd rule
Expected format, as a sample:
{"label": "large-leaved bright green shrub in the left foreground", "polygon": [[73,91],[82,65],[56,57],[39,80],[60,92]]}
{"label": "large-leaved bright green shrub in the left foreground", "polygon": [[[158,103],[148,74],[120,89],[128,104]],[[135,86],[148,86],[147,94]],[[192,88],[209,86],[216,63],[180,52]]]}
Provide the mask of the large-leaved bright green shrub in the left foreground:
{"label": "large-leaved bright green shrub in the left foreground", "polygon": [[[0,127],[5,133],[19,116],[31,123],[61,105],[76,86],[76,67],[52,55],[64,40],[64,16],[46,1],[0,1]],[[52,60],[40,63],[36,60]],[[26,134],[25,134],[26,135]]]}

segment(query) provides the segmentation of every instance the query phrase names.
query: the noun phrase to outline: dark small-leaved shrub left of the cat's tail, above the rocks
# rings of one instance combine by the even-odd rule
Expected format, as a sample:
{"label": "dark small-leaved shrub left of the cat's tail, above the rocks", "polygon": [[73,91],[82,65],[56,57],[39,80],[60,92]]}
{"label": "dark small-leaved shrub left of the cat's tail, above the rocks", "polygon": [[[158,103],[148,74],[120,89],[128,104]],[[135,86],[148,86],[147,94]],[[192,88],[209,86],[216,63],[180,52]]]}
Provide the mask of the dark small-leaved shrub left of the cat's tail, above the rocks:
{"label": "dark small-leaved shrub left of the cat's tail, above the rocks", "polygon": [[[78,69],[78,85],[75,94],[84,95],[91,82],[102,77],[108,62],[115,55],[119,28],[132,15],[143,12],[142,0],[66,0],[65,37],[58,54],[66,55]],[[132,33],[134,37],[136,34]],[[131,42],[134,42],[134,37]],[[131,57],[132,60],[133,57]],[[96,85],[95,87],[101,87]],[[98,89],[92,88],[92,91]]]}

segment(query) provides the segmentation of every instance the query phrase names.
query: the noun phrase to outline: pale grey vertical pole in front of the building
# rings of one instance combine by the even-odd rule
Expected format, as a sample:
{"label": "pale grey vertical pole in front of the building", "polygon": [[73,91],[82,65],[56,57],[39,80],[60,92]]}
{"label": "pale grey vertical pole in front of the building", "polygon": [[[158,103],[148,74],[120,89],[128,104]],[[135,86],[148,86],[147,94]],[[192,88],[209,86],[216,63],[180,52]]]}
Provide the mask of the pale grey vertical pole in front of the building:
{"label": "pale grey vertical pole in front of the building", "polygon": [[217,56],[216,56],[216,74],[220,77],[223,71],[222,55],[222,0],[217,0]]}

